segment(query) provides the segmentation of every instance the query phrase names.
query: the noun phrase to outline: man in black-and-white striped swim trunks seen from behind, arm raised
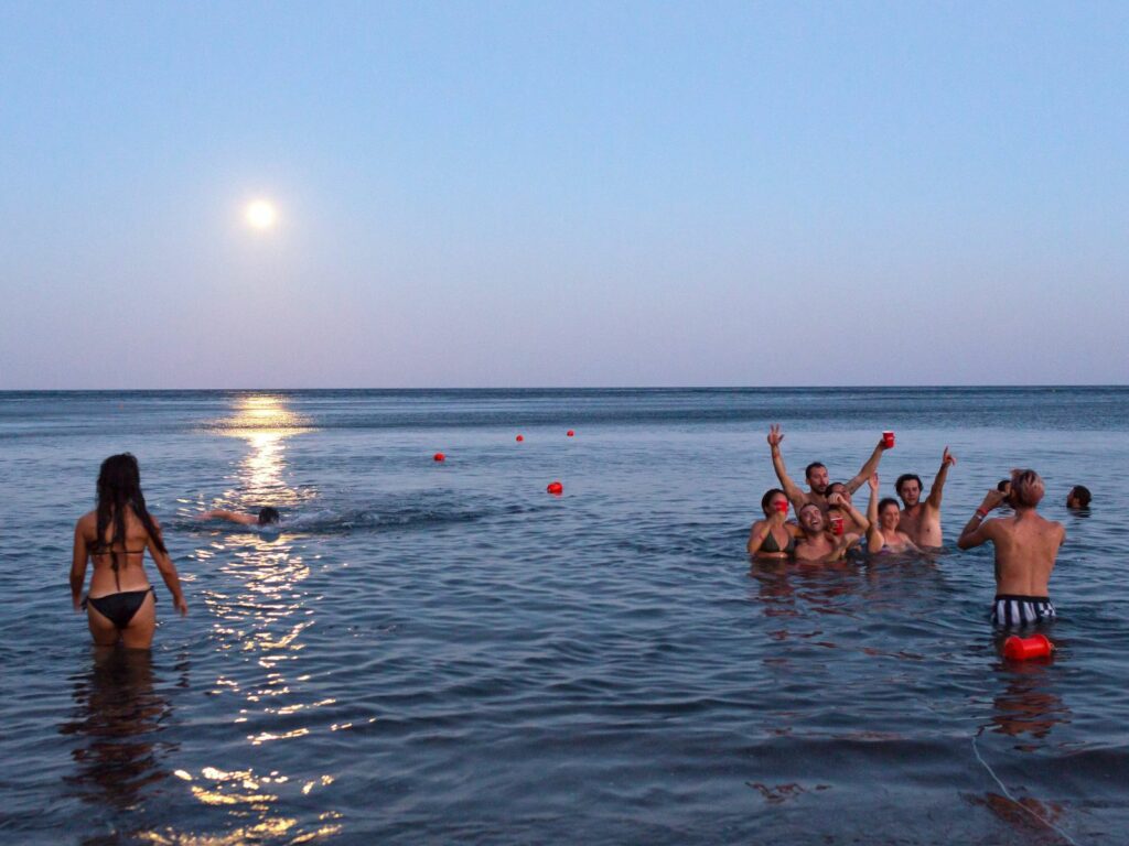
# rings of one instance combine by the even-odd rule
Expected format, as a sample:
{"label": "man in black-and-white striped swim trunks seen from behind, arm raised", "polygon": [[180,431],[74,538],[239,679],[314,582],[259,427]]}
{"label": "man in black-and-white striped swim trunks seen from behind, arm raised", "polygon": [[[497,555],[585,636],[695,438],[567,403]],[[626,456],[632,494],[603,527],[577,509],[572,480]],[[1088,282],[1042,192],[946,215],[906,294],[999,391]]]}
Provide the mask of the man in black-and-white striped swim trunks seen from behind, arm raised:
{"label": "man in black-and-white striped swim trunks seen from behind, arm raised", "polygon": [[986,520],[1004,501],[999,491],[989,491],[977,513],[961,532],[956,545],[972,549],[990,543],[996,550],[996,601],[992,624],[1003,627],[1052,620],[1049,584],[1054,558],[1066,538],[1061,523],[1040,517],[1036,509],[1045,487],[1034,470],[1012,470],[1012,508],[1015,517]]}

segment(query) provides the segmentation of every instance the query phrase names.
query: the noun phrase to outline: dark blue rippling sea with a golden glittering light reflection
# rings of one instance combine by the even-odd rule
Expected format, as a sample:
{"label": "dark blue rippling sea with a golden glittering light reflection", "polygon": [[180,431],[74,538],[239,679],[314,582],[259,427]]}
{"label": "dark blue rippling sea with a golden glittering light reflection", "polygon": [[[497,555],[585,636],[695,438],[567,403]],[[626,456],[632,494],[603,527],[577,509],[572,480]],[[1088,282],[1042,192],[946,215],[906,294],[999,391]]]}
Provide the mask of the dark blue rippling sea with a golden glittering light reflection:
{"label": "dark blue rippling sea with a golden glittering light reflection", "polygon": [[[884,493],[948,446],[948,548],[751,564],[770,423],[797,478],[895,430]],[[154,649],[97,656],[70,543],[123,450],[190,614],[150,564]],[[1030,663],[954,547],[1019,466],[1068,532]],[[1126,388],[0,394],[0,832],[1120,844],[1127,466]],[[262,504],[281,530],[192,518]]]}

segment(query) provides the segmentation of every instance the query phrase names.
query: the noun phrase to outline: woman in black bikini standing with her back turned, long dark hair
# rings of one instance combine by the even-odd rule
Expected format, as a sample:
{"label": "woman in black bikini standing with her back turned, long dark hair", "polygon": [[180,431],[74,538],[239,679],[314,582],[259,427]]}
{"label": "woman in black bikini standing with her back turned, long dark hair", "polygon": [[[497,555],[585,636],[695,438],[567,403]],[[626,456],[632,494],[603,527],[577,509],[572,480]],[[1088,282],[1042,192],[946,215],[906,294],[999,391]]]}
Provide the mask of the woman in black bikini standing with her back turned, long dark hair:
{"label": "woman in black bikini standing with her back turned, long dark hair", "polygon": [[[86,608],[96,645],[113,646],[121,641],[130,649],[149,649],[152,643],[157,600],[142,566],[146,549],[173,594],[176,610],[187,614],[160,526],[145,506],[138,461],[129,452],[111,456],[98,472],[98,506],[75,526],[71,561],[71,601],[76,611]],[[90,593],[82,599],[87,559],[94,562],[94,575]]]}

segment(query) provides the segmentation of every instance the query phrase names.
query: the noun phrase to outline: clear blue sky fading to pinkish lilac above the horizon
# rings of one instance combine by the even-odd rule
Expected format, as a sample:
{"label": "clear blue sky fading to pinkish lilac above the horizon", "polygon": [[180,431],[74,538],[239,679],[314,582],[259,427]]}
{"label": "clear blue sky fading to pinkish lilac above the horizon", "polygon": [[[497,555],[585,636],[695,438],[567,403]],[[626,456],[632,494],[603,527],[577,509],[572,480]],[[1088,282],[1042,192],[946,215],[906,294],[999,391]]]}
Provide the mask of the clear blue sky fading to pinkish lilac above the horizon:
{"label": "clear blue sky fading to pinkish lilac above the horizon", "polygon": [[1114,2],[0,0],[0,389],[1123,385],[1127,80]]}

